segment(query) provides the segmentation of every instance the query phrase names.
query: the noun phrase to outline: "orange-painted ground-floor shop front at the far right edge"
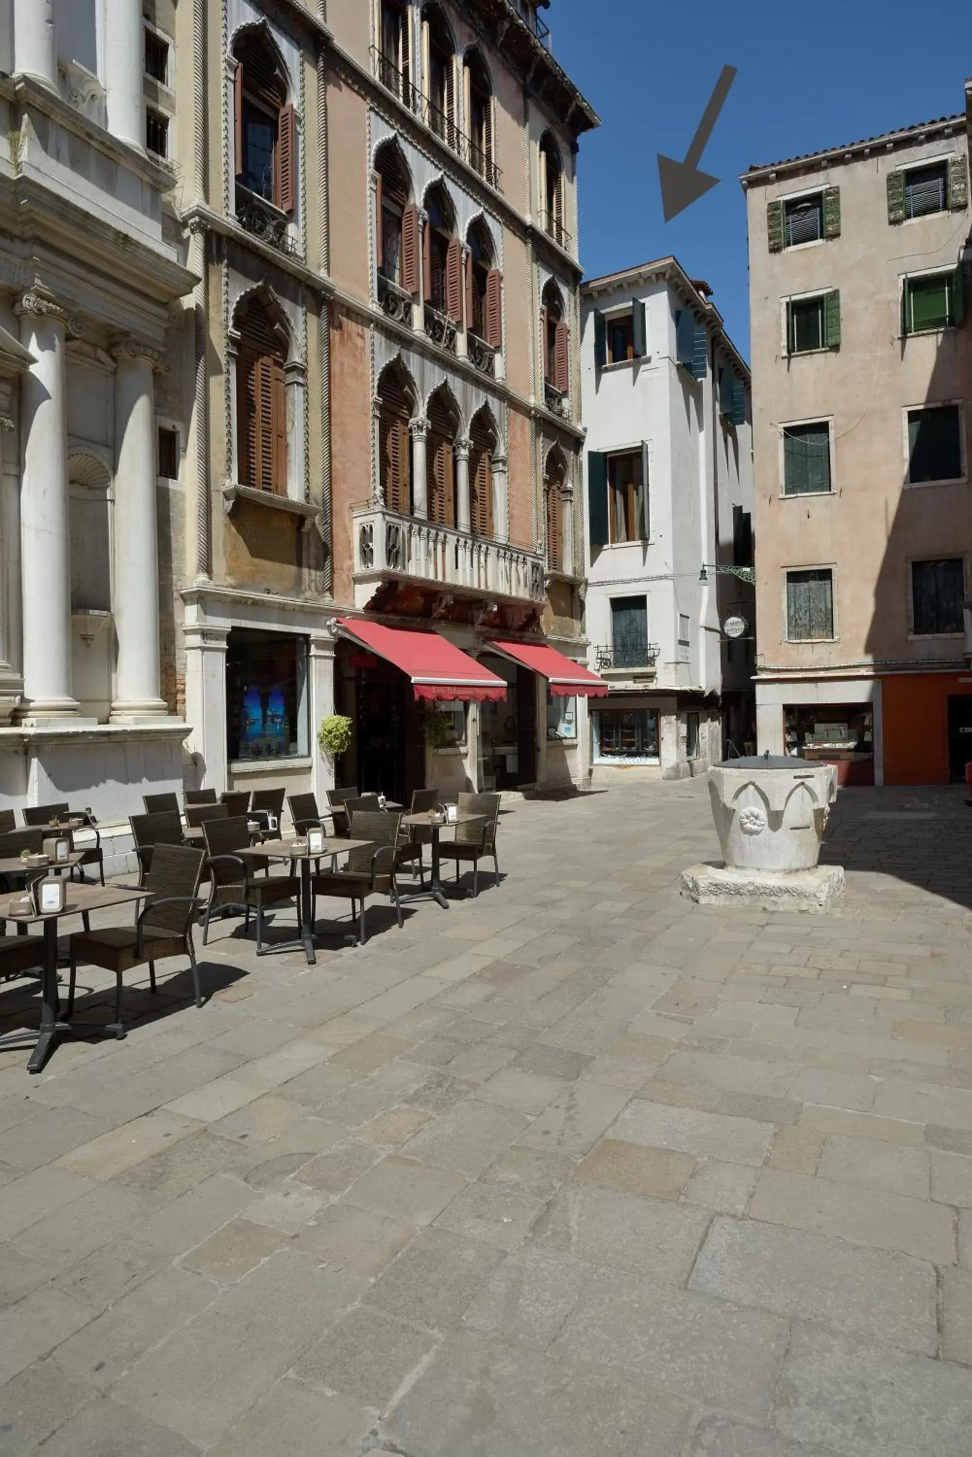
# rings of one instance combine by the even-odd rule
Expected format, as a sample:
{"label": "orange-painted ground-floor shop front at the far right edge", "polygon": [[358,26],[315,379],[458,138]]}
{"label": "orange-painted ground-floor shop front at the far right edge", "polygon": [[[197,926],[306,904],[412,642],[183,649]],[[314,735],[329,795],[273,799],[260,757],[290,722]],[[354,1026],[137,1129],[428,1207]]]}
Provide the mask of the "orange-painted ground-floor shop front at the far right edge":
{"label": "orange-painted ground-floor shop front at the far right edge", "polygon": [[959,784],[972,762],[972,673],[882,678],[885,784]]}

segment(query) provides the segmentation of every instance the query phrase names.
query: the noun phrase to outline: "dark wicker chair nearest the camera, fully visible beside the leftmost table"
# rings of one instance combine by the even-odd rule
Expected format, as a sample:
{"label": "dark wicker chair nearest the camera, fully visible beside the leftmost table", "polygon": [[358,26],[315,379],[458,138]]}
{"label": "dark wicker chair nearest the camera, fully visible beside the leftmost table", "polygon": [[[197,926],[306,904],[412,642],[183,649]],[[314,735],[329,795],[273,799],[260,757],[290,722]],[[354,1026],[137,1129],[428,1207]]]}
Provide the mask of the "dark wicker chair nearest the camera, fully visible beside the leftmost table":
{"label": "dark wicker chair nearest the camera, fully visible beside the leftmost table", "polygon": [[125,1036],[121,1021],[121,989],[125,972],[149,965],[149,985],[156,989],[156,962],[166,956],[188,956],[192,967],[195,1005],[203,1005],[200,991],[200,969],[195,965],[192,947],[192,919],[200,903],[200,874],[203,871],[201,849],[191,845],[156,845],[152,870],[146,876],[146,900],[131,927],[105,927],[99,931],[77,931],[68,944],[70,981],[67,991],[67,1016],[74,1010],[74,982],[77,963],[103,966],[115,973],[115,1020],[108,1032],[117,1037]]}

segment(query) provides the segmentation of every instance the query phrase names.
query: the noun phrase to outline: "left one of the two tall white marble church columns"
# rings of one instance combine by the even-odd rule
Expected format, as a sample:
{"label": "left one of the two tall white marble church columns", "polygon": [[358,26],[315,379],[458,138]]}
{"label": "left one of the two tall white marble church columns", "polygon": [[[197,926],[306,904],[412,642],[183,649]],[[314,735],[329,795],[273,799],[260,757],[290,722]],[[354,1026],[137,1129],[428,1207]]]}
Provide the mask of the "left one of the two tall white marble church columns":
{"label": "left one of the two tall white marble church columns", "polygon": [[35,360],[20,385],[20,717],[38,721],[79,711],[71,696],[67,316],[42,288],[25,293],[15,312]]}

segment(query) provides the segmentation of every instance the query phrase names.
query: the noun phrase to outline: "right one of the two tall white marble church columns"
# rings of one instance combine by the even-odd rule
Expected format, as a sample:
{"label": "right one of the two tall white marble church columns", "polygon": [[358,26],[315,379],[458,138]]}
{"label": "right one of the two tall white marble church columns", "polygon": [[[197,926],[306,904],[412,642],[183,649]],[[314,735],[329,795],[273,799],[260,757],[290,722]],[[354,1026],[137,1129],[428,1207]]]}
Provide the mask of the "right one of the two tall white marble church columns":
{"label": "right one of the two tall white marble church columns", "polygon": [[115,357],[115,580],[118,637],[112,723],[168,714],[159,696],[159,529],[156,517],[156,412],[153,370],[159,351],[125,339]]}

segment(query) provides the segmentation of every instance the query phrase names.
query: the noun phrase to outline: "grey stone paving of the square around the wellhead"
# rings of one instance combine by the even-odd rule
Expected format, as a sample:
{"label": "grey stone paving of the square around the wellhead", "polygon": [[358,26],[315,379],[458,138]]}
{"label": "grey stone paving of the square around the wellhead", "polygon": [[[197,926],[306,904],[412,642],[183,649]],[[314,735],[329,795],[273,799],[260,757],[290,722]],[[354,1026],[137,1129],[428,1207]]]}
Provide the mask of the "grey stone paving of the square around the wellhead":
{"label": "grey stone paving of the square around the wellhead", "polygon": [[510,801],[500,855],[3,1055],[1,1457],[972,1454],[962,788],[842,791],[826,915],[681,898],[702,782]]}

